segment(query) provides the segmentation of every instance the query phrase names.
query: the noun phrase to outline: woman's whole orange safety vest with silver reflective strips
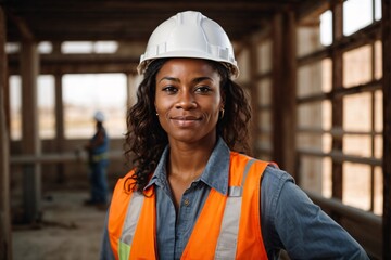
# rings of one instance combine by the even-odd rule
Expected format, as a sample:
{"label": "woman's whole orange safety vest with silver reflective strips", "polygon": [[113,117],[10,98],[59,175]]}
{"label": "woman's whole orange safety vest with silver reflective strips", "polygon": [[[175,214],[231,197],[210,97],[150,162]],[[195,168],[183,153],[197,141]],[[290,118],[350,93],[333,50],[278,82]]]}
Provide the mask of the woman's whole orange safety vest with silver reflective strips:
{"label": "woman's whole orange safety vest with silver reflective strips", "polygon": [[[261,232],[261,177],[268,162],[230,153],[228,195],[211,190],[181,259],[267,259]],[[153,186],[147,196],[124,190],[119,179],[109,212],[115,259],[157,259]]]}

